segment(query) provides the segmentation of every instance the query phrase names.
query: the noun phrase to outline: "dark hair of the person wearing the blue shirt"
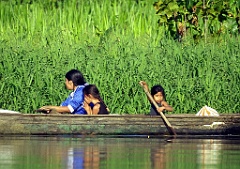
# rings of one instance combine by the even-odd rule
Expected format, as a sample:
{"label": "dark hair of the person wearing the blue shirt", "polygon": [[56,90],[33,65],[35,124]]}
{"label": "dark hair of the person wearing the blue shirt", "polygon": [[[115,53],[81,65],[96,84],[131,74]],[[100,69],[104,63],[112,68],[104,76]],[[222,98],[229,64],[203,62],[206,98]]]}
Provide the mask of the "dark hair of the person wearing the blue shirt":
{"label": "dark hair of the person wearing the blue shirt", "polygon": [[74,86],[84,85],[86,83],[82,73],[77,69],[72,69],[72,70],[68,71],[66,73],[65,77],[69,81],[71,80],[73,82]]}

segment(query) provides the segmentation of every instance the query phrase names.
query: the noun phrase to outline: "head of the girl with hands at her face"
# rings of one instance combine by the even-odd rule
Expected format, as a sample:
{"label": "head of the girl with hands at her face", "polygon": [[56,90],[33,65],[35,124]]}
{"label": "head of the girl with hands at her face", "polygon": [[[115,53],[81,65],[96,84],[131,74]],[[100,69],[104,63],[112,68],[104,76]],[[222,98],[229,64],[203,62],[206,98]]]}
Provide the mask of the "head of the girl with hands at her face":
{"label": "head of the girl with hands at her face", "polygon": [[93,99],[101,100],[100,92],[95,85],[87,85],[83,89],[84,100],[89,104]]}

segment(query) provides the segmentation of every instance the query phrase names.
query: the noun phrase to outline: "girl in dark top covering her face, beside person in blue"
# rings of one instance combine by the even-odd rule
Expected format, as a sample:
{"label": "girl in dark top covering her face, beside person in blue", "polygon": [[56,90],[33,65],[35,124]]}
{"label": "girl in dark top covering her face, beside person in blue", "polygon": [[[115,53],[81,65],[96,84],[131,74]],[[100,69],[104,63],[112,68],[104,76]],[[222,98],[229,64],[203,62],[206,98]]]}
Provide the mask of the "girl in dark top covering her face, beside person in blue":
{"label": "girl in dark top covering her face, beside person in blue", "polygon": [[87,85],[83,89],[84,93],[84,108],[89,115],[109,114],[109,109],[103,102],[100,92],[95,85]]}

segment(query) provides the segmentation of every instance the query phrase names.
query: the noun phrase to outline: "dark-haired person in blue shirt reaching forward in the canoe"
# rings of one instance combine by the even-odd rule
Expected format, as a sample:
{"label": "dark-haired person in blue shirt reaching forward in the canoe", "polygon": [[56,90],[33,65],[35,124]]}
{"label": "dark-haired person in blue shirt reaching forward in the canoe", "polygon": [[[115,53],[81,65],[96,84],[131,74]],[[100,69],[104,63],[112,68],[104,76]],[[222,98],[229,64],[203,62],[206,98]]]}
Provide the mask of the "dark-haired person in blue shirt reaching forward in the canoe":
{"label": "dark-haired person in blue shirt reaching forward in the canoe", "polygon": [[40,109],[48,113],[55,110],[58,113],[87,114],[83,108],[84,94],[83,89],[86,85],[85,79],[79,70],[72,69],[65,75],[65,86],[72,90],[71,94],[60,106],[43,106]]}

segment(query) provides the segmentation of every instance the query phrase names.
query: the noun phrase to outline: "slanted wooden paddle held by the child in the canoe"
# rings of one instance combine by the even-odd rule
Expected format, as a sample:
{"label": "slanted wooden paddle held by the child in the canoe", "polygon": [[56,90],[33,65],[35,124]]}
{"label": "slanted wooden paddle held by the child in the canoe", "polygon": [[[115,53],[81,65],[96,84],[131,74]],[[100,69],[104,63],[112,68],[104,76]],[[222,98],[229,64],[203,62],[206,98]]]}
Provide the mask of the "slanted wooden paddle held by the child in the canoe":
{"label": "slanted wooden paddle held by the child in the canoe", "polygon": [[[159,108],[159,106],[157,105],[157,103],[155,102],[155,100],[153,99],[152,95],[149,93],[149,91],[144,88],[144,86],[140,83],[140,85],[142,86],[143,90],[145,91],[146,95],[148,96],[149,100],[153,103],[153,105],[155,106],[156,109]],[[167,127],[168,129],[168,132],[171,134],[171,135],[177,135],[176,132],[174,131],[174,129],[172,128],[172,125],[170,124],[170,122],[168,121],[168,119],[166,118],[166,116],[160,112],[160,115],[163,119],[163,122],[165,124],[165,126]]]}

